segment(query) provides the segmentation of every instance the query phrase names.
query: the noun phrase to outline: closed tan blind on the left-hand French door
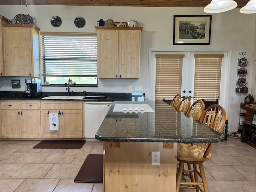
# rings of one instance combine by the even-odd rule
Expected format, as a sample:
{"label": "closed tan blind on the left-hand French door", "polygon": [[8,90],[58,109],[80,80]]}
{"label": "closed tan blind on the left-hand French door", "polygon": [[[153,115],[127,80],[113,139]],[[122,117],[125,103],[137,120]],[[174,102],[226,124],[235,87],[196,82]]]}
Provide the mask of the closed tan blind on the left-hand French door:
{"label": "closed tan blind on the left-hand French door", "polygon": [[156,54],[155,100],[172,100],[181,94],[184,54]]}

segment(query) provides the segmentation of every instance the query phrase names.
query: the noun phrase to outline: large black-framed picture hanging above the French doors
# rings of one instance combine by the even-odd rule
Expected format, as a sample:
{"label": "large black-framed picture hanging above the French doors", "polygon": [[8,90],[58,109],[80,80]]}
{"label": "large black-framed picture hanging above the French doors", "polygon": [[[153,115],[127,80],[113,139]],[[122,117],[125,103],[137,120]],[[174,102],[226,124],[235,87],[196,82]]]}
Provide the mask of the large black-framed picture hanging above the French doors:
{"label": "large black-framed picture hanging above the French doors", "polygon": [[210,45],[211,15],[174,15],[174,45]]}

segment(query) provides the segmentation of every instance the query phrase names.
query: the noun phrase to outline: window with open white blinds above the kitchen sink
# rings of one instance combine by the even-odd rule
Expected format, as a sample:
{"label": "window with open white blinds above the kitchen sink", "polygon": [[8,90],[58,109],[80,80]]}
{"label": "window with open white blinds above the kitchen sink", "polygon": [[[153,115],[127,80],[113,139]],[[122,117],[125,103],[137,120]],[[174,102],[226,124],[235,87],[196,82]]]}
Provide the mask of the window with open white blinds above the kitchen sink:
{"label": "window with open white blinds above the kitchen sink", "polygon": [[45,81],[97,84],[96,33],[41,32],[41,70]]}

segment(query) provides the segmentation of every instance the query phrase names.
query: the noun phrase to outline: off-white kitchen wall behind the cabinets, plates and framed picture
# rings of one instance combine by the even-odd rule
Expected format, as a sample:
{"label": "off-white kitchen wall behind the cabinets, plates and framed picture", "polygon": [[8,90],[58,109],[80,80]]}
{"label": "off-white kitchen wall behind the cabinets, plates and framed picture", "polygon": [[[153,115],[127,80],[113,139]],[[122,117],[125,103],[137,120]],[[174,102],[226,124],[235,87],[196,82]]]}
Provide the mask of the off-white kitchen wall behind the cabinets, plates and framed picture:
{"label": "off-white kitchen wall behind the cabinets, plates and framed picture", "polygon": [[[22,9],[22,10],[21,10]],[[238,117],[240,102],[248,94],[256,94],[256,66],[255,66],[255,26],[256,14],[241,14],[239,8],[224,13],[212,14],[212,33],[210,45],[173,45],[173,16],[174,15],[206,15],[203,8],[153,8],[153,7],[114,7],[114,6],[0,6],[2,16],[8,19],[14,18],[17,14],[30,14],[35,16],[41,31],[56,32],[96,32],[94,26],[102,18],[113,19],[114,21],[137,20],[142,30],[141,40],[141,67],[140,78],[134,79],[99,79],[98,88],[76,88],[82,92],[117,92],[116,86],[122,86],[121,92],[129,91],[129,85],[144,86],[143,92],[148,93],[148,67],[149,49],[168,50],[229,50],[230,70],[228,94],[226,97],[226,111],[229,120],[229,130],[236,131],[238,128]],[[50,24],[52,16],[59,16],[62,25],[54,28]],[[82,16],[86,20],[84,28],[77,28],[74,19]],[[240,57],[239,52],[246,52],[246,58],[250,65],[247,67],[249,74],[248,94],[235,93],[237,62]],[[227,74],[228,75],[228,74]],[[1,90],[12,91],[10,80],[14,78],[1,78]],[[25,78],[20,78],[24,82]],[[23,84],[21,85],[22,87]],[[23,91],[21,88],[20,91]],[[43,87],[42,91],[64,91],[63,87],[51,88]],[[141,92],[141,91],[139,91]]]}

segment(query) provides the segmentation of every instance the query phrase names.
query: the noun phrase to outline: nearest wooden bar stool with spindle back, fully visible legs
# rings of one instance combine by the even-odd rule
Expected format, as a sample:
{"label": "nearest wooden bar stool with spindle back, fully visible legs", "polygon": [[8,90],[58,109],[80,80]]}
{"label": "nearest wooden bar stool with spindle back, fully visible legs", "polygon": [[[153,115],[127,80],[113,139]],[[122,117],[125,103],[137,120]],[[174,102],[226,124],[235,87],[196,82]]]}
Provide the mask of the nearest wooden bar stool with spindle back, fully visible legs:
{"label": "nearest wooden bar stool with spindle back, fully visible legs", "polygon": [[[204,111],[199,121],[218,132],[222,132],[226,121],[226,111],[222,106],[214,104]],[[196,189],[196,192],[199,192],[199,190],[209,192],[203,162],[211,159],[210,151],[213,145],[214,143],[198,143],[197,145],[181,143],[178,145],[177,160],[179,168],[176,192],[179,192],[180,189]],[[188,164],[188,170],[184,169],[184,163]],[[191,181],[181,182],[182,176],[188,176]],[[198,176],[202,179],[202,182],[199,182]]]}

